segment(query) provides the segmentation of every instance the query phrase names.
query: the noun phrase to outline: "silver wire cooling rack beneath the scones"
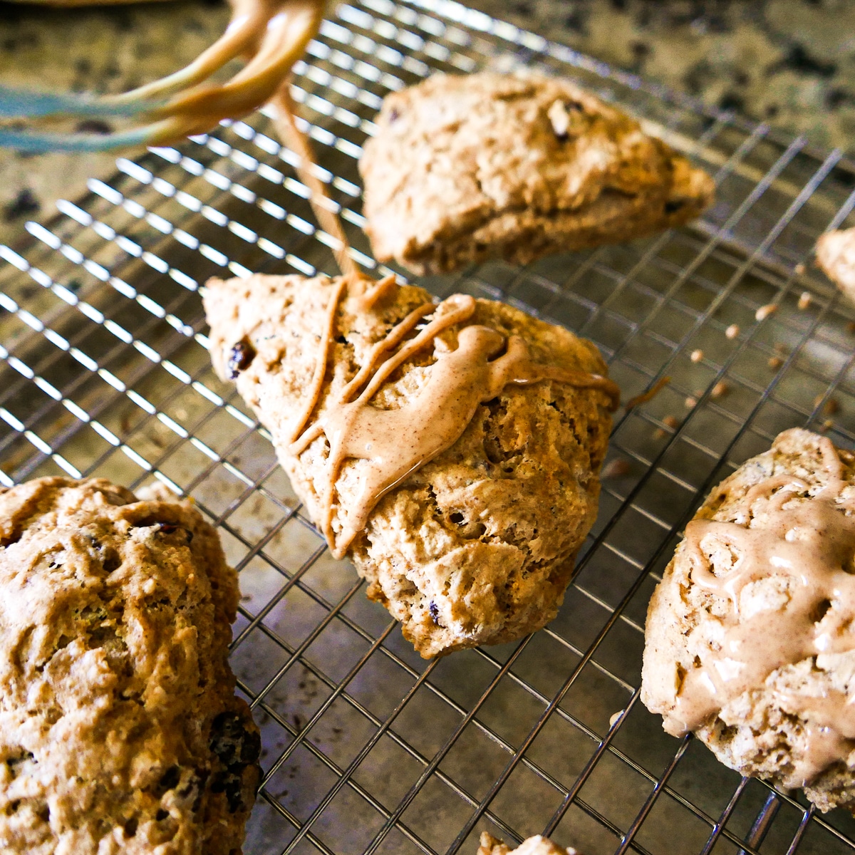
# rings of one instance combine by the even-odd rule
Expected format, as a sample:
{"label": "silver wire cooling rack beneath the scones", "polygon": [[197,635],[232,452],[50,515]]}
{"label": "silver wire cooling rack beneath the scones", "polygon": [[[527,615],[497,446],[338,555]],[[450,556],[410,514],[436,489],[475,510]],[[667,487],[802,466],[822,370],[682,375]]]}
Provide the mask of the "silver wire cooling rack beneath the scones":
{"label": "silver wire cooling rack beneath the scones", "polygon": [[598,522],[557,619],[423,662],[329,557],[266,433],[212,373],[198,293],[209,276],[334,273],[263,115],[120,159],[85,198],[28,223],[21,245],[0,246],[0,480],[156,478],[219,526],[243,591],[233,668],[262,728],[251,855],[474,853],[484,829],[508,842],[545,832],[588,855],[852,852],[843,811],[823,817],[741,779],[638,700],[647,600],[710,486],[784,428],[855,445],[855,311],[810,263],[855,203],[852,163],[457,3],[361,0],[336,14],[294,91],[369,270],[360,145],[381,97],[434,69],[574,74],[716,176],[718,201],[692,227],[425,282],[593,339],[626,396],[672,377],[616,419]]}

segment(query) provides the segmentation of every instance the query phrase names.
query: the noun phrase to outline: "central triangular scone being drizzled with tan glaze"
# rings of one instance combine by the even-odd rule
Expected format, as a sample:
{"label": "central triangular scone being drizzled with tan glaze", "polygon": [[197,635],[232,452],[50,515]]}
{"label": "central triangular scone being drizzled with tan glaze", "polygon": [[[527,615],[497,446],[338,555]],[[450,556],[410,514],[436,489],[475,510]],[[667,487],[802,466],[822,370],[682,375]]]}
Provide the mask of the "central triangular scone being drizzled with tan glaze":
{"label": "central triangular scone being drizzled with tan glaze", "polygon": [[[590,342],[504,304],[457,295],[436,305],[422,288],[391,279],[373,288],[360,297],[342,278],[209,281],[204,304],[217,374],[235,381],[272,434],[333,554],[351,557],[369,581],[369,597],[403,623],[422,656],[539,629],[556,615],[597,513],[615,391],[613,384],[604,391],[609,381],[594,376],[605,373],[603,360]],[[412,350],[437,324],[447,328]],[[377,357],[380,342],[401,329],[395,346]],[[419,468],[419,447],[442,433],[447,416],[431,390],[475,339],[493,341],[481,369],[522,349],[530,365],[582,379],[511,382],[495,393],[485,380],[475,392],[489,399],[474,399],[462,433]],[[410,356],[383,380],[408,348]],[[367,372],[372,358],[375,370]],[[458,374],[451,379],[459,381]],[[392,431],[374,447],[364,443],[366,457],[342,458],[331,480],[338,446],[331,452],[327,433],[341,439],[341,414],[349,410],[340,402],[354,385],[370,392],[362,416]],[[457,406],[453,398],[446,403]],[[411,425],[401,428],[408,412]],[[360,520],[353,509],[390,460],[400,463],[389,475],[394,483]]]}

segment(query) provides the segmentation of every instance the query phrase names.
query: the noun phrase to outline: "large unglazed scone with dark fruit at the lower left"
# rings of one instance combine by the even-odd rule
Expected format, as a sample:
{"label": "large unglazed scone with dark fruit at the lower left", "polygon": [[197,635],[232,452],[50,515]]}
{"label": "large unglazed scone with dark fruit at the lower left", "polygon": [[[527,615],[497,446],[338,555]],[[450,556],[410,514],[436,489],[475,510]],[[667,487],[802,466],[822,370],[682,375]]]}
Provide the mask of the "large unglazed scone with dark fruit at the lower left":
{"label": "large unglazed scone with dark fruit at the lower left", "polygon": [[237,577],[191,504],[103,479],[0,494],[0,851],[239,855],[259,736]]}

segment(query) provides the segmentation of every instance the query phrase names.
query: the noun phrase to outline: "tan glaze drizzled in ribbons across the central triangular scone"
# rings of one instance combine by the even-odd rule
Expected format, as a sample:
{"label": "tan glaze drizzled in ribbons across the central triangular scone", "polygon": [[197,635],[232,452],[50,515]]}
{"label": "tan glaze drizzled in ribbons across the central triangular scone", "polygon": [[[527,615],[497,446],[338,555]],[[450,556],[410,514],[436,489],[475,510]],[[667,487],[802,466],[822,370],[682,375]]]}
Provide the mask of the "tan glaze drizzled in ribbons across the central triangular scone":
{"label": "tan glaze drizzled in ribbons across the central triangular scone", "polygon": [[[333,292],[327,319],[334,317],[338,302],[347,290],[352,289],[353,298],[362,300],[363,306],[370,306],[374,302],[374,294],[382,293],[381,289],[386,289],[387,282],[384,280],[374,286],[372,298],[366,300],[363,296],[366,286],[364,280],[342,279]],[[432,310],[433,321],[393,356],[386,357],[404,339],[404,335],[410,333],[418,321]],[[407,404],[395,410],[380,410],[369,405],[374,393],[395,369],[416,351],[431,344],[439,333],[455,324],[469,321],[474,314],[475,299],[465,294],[454,294],[439,306],[424,304],[411,312],[375,346],[373,358],[345,386],[339,400],[294,440],[290,451],[297,455],[321,433],[327,436],[330,452],[322,490],[323,517],[319,525],[334,557],[344,557],[347,547],[365,527],[369,514],[380,498],[416,469],[421,469],[425,463],[445,451],[466,429],[478,404],[495,398],[504,386],[510,383],[527,385],[540,380],[557,380],[577,388],[602,389],[610,395],[612,405],[616,408],[620,390],[608,378],[563,369],[557,365],[536,363],[522,338],[512,335],[505,339],[501,333],[481,325],[463,327],[459,333],[457,350],[433,364],[428,383]],[[324,374],[332,337],[333,323],[327,322],[319,346],[319,367],[315,370],[315,377]],[[503,348],[506,350],[498,356]],[[386,361],[381,362],[385,357]],[[374,374],[370,375],[372,370]],[[363,392],[351,401],[366,381]],[[313,384],[296,431],[300,431],[310,418],[319,393],[320,384]],[[372,469],[363,475],[362,488],[356,498],[347,503],[339,500],[339,505],[347,506],[339,508],[343,527],[336,537],[333,533],[335,483],[341,464],[349,457],[369,460]]]}

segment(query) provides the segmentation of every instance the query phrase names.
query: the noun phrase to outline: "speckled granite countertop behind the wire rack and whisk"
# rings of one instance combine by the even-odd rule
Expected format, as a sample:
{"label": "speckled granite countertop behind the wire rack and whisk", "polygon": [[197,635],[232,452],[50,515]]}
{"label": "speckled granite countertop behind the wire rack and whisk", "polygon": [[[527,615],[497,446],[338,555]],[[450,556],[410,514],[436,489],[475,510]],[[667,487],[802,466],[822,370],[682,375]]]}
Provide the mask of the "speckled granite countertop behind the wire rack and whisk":
{"label": "speckled granite countertop behind the wire rack and whisk", "polygon": [[[707,103],[855,150],[855,3],[850,0],[469,0]],[[179,68],[223,30],[218,0],[44,9],[0,0],[0,81],[122,91]],[[79,194],[115,156],[0,150],[0,240]]]}

